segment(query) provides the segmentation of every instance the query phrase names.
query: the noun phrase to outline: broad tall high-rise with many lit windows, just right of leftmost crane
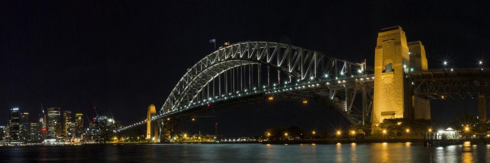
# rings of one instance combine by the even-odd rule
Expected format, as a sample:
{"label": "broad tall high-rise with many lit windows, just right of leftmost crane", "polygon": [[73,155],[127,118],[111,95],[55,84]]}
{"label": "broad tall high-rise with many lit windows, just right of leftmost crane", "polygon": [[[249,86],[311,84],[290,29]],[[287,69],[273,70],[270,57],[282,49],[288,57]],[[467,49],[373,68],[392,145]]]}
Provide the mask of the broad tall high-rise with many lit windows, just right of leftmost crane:
{"label": "broad tall high-rise with many lit windows, just right of leftmost crane", "polygon": [[56,139],[63,137],[61,112],[59,107],[47,108],[47,137]]}

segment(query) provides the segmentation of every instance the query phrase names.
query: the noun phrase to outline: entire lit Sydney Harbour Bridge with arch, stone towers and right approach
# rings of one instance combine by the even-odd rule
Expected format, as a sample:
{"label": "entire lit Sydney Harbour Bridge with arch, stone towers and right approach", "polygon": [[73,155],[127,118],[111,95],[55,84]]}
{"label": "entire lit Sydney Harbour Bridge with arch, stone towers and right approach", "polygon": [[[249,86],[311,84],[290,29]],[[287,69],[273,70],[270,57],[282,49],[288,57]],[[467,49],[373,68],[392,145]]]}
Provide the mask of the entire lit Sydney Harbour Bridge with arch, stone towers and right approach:
{"label": "entire lit Sydney Harbour Bridge with arch, stone towers and right approach", "polygon": [[378,33],[374,67],[276,42],[220,47],[187,69],[160,110],[150,105],[146,119],[116,132],[146,125],[148,141],[166,142],[181,121],[276,100],[315,101],[374,127],[385,118],[430,119],[430,99],[478,98],[486,121],[489,94],[489,69],[428,69],[422,43],[394,26]]}

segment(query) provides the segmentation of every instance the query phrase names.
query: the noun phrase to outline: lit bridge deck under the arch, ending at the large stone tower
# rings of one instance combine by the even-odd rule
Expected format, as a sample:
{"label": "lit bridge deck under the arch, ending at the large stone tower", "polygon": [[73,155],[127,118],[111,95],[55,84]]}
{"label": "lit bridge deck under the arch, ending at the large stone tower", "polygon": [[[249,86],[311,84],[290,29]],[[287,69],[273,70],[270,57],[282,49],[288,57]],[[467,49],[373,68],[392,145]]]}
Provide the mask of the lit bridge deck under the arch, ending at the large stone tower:
{"label": "lit bridge deck under the arch, ending at the large stone tower", "polygon": [[[272,89],[258,89],[250,92],[245,92],[239,95],[222,95],[211,101],[195,102],[190,106],[180,107],[177,110],[170,111],[168,113],[159,114],[152,118],[152,121],[167,121],[168,120],[190,120],[193,117],[204,116],[209,112],[216,110],[224,110],[228,108],[236,108],[245,105],[252,105],[256,103],[263,103],[271,101],[269,97],[273,97],[274,101],[289,100],[289,101],[303,101],[303,100],[316,100],[317,102],[332,106],[340,114],[345,116],[351,123],[358,124],[362,116],[362,111],[355,107],[351,103],[351,108],[341,108],[334,103],[334,98],[339,98],[337,91],[346,91],[356,87],[367,86],[372,87],[374,84],[374,75],[357,75],[353,77],[345,77],[338,79],[318,79],[300,80],[294,84],[288,84],[283,87]],[[370,89],[372,90],[372,88]],[[360,92],[360,91],[359,91]],[[355,92],[350,92],[354,93]],[[322,100],[322,98],[330,98],[331,100]],[[353,99],[351,99],[353,101]],[[368,111],[369,112],[369,111]],[[364,115],[365,118],[366,115]],[[359,120],[357,119],[359,118]],[[139,125],[145,125],[146,120],[134,123],[132,125],[123,127],[117,132],[130,129]]]}

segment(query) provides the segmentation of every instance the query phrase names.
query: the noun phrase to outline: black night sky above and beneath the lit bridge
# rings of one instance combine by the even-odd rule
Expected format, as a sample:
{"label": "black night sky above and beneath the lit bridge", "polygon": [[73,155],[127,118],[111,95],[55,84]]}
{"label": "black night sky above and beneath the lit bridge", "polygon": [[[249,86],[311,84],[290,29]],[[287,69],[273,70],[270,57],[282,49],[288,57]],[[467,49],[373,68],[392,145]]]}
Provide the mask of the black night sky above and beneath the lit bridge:
{"label": "black night sky above and beneath the lit bridge", "polygon": [[[1,1],[0,124],[11,107],[37,118],[40,103],[89,117],[97,106],[124,124],[140,121],[150,103],[159,109],[186,69],[213,50],[213,38],[290,43],[372,66],[378,30],[401,25],[408,41],[425,45],[429,68],[440,68],[443,59],[456,68],[475,67],[485,57],[490,63],[486,1],[325,2]],[[476,114],[477,105],[448,100],[431,106],[432,117],[445,120]],[[240,134],[345,123],[313,104],[301,107],[249,106],[216,113],[202,120],[204,127],[183,126],[213,131],[219,121],[227,133]],[[278,109],[286,112],[274,115]]]}

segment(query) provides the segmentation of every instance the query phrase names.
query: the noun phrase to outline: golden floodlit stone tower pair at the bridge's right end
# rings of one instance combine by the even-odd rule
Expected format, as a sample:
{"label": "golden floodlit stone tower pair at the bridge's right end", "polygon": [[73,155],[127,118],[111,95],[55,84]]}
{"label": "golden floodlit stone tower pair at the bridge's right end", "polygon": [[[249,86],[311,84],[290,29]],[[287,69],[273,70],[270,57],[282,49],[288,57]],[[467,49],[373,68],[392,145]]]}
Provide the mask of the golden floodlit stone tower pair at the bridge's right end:
{"label": "golden floodlit stone tower pair at the bridge's right end", "polygon": [[375,49],[373,126],[386,118],[430,119],[429,100],[413,96],[404,77],[405,72],[427,68],[422,42],[407,43],[400,26],[380,30]]}

